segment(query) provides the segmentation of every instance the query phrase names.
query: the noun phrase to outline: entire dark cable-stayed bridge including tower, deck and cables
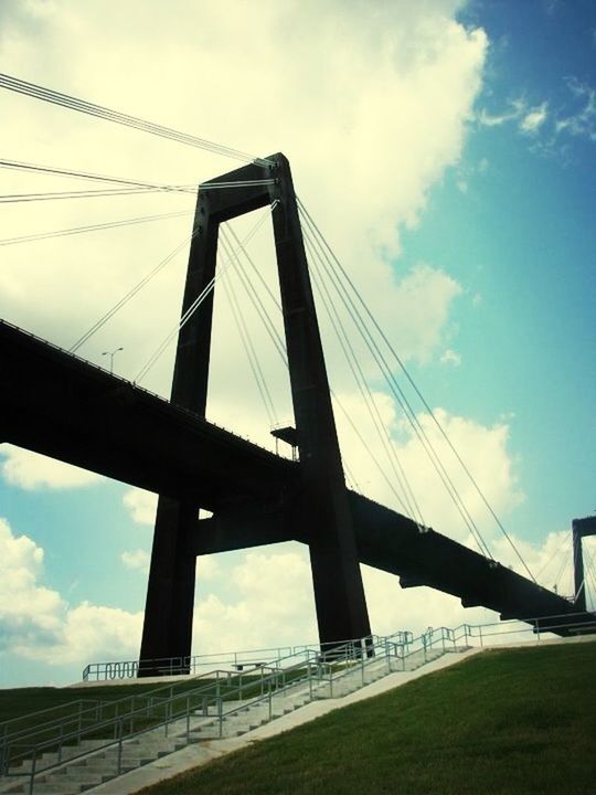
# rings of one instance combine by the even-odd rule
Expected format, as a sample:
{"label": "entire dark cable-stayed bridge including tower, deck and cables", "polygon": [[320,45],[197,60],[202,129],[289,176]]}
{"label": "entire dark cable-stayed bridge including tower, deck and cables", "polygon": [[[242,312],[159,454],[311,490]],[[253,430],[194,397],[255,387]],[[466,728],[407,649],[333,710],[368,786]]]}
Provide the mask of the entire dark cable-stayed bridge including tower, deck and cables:
{"label": "entire dark cable-stayed bridge including tower, deck and cables", "polygon": [[[115,115],[115,112],[83,100],[64,98],[65,95],[56,97],[47,89],[6,77],[0,83],[12,91],[187,145],[206,144],[167,128],[157,129],[132,117]],[[393,374],[395,362],[435,423],[436,417],[313,219],[297,199],[289,163],[284,156],[277,153],[251,159],[236,150],[221,153],[249,162],[200,187],[181,320],[139,371],[135,382],[107,373],[75,353],[184,247],[183,244],[109,309],[70,352],[9,324],[0,324],[3,382],[0,391],[0,441],[160,495],[141,658],[183,658],[190,655],[196,555],[285,540],[297,540],[309,547],[319,635],[324,645],[370,635],[360,563],[397,574],[404,587],[427,585],[458,596],[465,606],[483,605],[505,618],[538,619],[536,626],[541,629],[551,628],[564,635],[576,632],[578,625],[584,630],[594,628],[594,615],[586,611],[585,602],[571,602],[533,580],[473,476],[438,426],[529,576],[513,572],[492,558]],[[7,162],[11,162],[12,168],[18,167],[14,161]],[[81,172],[77,176],[104,179]],[[111,181],[119,186],[109,190],[120,192],[189,190],[184,186]],[[108,189],[102,190],[105,192]],[[32,198],[30,194],[26,201],[40,200],[41,195]],[[45,194],[45,199],[49,198]],[[25,201],[23,197],[21,199]],[[227,235],[223,224],[259,209],[267,212],[244,241]],[[245,245],[269,214],[280,283],[278,309],[284,319],[284,337],[272,325],[266,308],[255,298],[252,280],[240,264],[241,256],[246,255]],[[129,222],[145,223],[158,218],[137,218]],[[61,233],[78,234],[97,231],[98,227],[92,224],[85,229],[62,230]],[[0,244],[15,244],[24,240],[6,239]],[[223,265],[216,265],[220,247],[226,255]],[[215,283],[232,268],[238,276],[244,273],[241,280],[246,294],[256,301],[272,341],[288,367],[296,427],[286,428],[286,438],[295,443],[298,460],[274,455],[205,418],[213,290]],[[258,276],[258,271],[255,273]],[[329,276],[327,282],[326,275]],[[403,505],[403,513],[375,504],[345,486],[344,462],[338,443],[311,279],[319,289],[319,297],[338,333],[360,394],[387,452],[389,467],[375,464]],[[232,283],[222,280],[222,284],[228,292],[231,308],[265,407],[273,416],[275,409],[263,368],[243,327],[242,303],[235,296]],[[330,285],[336,288],[339,298],[333,298]],[[273,300],[276,298],[273,297]],[[362,335],[380,372],[386,378],[393,398],[411,422],[414,434],[453,499],[462,524],[475,538],[479,552],[426,524],[407,475],[395,457],[391,437],[383,427],[350,335],[337,312],[337,303],[344,305]],[[169,402],[146,392],[138,382],[174,338],[178,339],[178,348]],[[385,343],[384,350],[380,340]],[[395,362],[389,361],[390,354],[394,354]],[[358,433],[358,428],[354,430]],[[366,445],[365,439],[361,441]],[[213,517],[200,519],[201,509],[212,511]],[[584,582],[581,585],[579,591]],[[145,672],[151,672],[150,667]]]}

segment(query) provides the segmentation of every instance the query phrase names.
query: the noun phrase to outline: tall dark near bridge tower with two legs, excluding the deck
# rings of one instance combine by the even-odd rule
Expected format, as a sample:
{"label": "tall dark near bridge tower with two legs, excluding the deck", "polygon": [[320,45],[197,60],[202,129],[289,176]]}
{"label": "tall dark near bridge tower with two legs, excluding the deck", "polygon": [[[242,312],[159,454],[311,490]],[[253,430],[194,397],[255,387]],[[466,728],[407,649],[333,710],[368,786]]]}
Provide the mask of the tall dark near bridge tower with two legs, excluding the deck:
{"label": "tall dark near bridge tower with two legs, excluding the deck", "polygon": [[[210,180],[210,184],[217,182],[248,184],[199,190],[182,314],[215,275],[220,224],[274,203],[275,250],[300,458],[300,492],[292,496],[297,506],[294,521],[308,528],[321,645],[365,637],[370,634],[366,602],[289,162],[277,153]],[[201,416],[206,409],[212,318],[213,292],[180,330],[171,391],[172,403]],[[159,497],[141,660],[190,656],[195,558],[201,550],[200,508],[192,499]],[[245,508],[249,512],[254,506]],[[242,515],[244,507],[241,504],[235,510]],[[140,675],[151,672],[149,664],[141,666]]]}

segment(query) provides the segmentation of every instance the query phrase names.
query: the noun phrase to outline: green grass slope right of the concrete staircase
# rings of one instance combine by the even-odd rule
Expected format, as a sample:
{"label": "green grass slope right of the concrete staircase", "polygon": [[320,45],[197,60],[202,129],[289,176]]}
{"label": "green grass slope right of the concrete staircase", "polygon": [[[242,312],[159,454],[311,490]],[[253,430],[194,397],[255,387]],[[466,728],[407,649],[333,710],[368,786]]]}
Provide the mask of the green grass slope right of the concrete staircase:
{"label": "green grass slope right of the concrete staircase", "polygon": [[596,643],[489,651],[143,795],[587,795]]}

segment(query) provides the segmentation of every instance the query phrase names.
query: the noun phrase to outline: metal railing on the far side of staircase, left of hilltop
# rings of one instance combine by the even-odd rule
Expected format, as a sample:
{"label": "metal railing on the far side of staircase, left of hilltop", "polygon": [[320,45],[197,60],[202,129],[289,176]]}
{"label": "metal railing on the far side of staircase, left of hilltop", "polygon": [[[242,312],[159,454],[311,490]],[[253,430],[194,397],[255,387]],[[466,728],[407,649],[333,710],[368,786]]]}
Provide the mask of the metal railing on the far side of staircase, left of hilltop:
{"label": "metal railing on the far side of staircase, left of hilltop", "polygon": [[[257,704],[268,707],[270,719],[273,699],[297,688],[302,688],[305,699],[311,700],[321,686],[329,685],[332,696],[337,679],[352,674],[356,664],[364,670],[376,661],[375,654],[382,648],[398,655],[397,644],[391,640],[358,638],[323,653],[319,648],[302,648],[248,672],[216,670],[116,701],[98,701],[34,730],[6,732],[0,746],[0,774],[28,777],[33,792],[36,775],[116,749],[114,775],[118,775],[124,744],[134,738],[160,729],[168,736],[172,723],[185,721],[189,741],[191,721],[198,718],[214,720],[219,736],[223,736],[224,721]],[[198,686],[189,689],[190,682]],[[235,701],[240,702],[236,707]],[[83,748],[85,740],[94,741],[92,750],[88,745]]]}

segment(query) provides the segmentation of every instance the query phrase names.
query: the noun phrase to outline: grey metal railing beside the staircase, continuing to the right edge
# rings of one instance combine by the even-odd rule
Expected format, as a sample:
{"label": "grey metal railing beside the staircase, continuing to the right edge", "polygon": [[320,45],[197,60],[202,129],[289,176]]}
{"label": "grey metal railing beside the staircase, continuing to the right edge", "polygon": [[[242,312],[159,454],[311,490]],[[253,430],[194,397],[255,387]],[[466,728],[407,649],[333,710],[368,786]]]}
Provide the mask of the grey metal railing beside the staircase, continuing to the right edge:
{"label": "grey metal railing beside the staircase, continuing to the right edge", "polygon": [[[265,720],[272,720],[276,717],[274,699],[300,695],[301,703],[306,703],[318,697],[333,698],[341,692],[342,683],[352,689],[365,685],[366,672],[373,667],[379,675],[406,670],[449,651],[489,645],[493,636],[530,632],[538,642],[544,637],[544,617],[524,619],[522,628],[513,625],[522,622],[462,624],[455,629],[428,627],[417,637],[411,633],[373,635],[338,643],[323,651],[300,647],[249,671],[214,670],[124,699],[72,702],[64,706],[71,710],[66,717],[53,716],[40,722],[49,712],[43,710],[36,713],[34,729],[18,728],[18,720],[26,717],[0,724],[0,775],[28,778],[31,794],[40,773],[111,750],[116,776],[123,772],[126,744],[149,732],[159,732],[160,736],[161,732],[164,736],[173,732],[171,736],[180,746],[191,742],[201,725],[221,738],[224,723],[243,711],[263,707]],[[549,617],[549,629],[562,626],[570,626],[568,615]],[[596,632],[596,616],[586,621],[583,614],[573,628]]]}

